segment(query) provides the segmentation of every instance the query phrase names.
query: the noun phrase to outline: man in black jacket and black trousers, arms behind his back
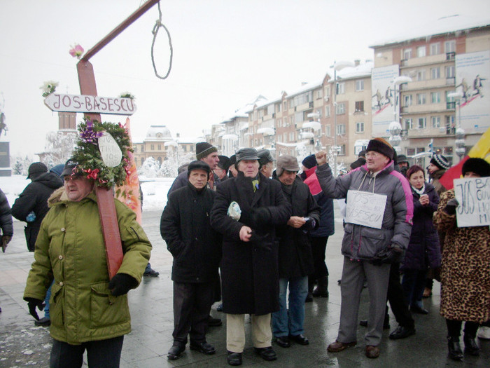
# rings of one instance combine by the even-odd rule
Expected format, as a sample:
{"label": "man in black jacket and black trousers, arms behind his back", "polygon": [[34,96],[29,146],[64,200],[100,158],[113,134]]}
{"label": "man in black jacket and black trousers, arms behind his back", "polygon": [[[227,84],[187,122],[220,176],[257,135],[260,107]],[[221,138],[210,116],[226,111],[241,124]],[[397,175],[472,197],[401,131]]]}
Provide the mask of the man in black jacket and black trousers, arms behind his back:
{"label": "man in black jacket and black trousers, arms behind his back", "polygon": [[178,359],[186,350],[189,334],[192,350],[207,355],[216,352],[206,341],[221,259],[221,237],[209,224],[215,196],[207,188],[210,172],[207,163],[190,163],[188,185],[170,194],[160,221],[160,234],[174,257],[174,344],[169,360]]}

